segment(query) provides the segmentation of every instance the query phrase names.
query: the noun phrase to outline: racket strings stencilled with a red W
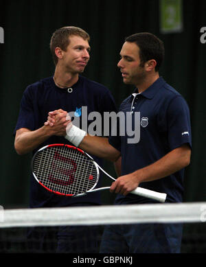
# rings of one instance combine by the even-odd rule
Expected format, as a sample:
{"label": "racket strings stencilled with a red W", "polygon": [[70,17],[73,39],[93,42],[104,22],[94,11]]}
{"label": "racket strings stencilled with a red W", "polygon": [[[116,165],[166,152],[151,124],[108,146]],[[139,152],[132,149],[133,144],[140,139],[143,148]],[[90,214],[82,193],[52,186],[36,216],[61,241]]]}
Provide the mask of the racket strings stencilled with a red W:
{"label": "racket strings stencilled with a red W", "polygon": [[34,174],[45,187],[60,194],[81,194],[98,180],[93,161],[78,150],[49,147],[36,154]]}

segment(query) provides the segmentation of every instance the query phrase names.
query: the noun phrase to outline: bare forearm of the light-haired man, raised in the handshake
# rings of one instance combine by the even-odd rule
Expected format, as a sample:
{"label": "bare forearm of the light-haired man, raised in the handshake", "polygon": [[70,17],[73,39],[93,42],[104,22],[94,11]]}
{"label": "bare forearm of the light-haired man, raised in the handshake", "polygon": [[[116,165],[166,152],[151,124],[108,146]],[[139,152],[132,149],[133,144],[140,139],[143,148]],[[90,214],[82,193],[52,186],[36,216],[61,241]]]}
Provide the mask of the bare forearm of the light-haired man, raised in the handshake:
{"label": "bare forearm of the light-haired man, raised in the handshake", "polygon": [[47,140],[51,136],[51,132],[45,128],[45,126],[38,130],[19,130],[19,134],[16,134],[14,148],[19,155],[32,152],[41,143]]}

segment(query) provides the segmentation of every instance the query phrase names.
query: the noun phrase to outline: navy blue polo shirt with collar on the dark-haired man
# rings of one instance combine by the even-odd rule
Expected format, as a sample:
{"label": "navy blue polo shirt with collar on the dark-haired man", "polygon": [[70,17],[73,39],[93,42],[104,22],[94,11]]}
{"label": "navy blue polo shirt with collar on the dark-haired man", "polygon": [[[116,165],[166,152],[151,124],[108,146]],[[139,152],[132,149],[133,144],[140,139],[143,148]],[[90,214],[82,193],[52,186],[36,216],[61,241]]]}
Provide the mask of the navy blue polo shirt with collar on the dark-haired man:
{"label": "navy blue polo shirt with collar on the dark-haired man", "polygon": [[[136,89],[134,94],[122,102],[119,111],[130,113],[133,126],[135,112],[140,113],[139,142],[128,143],[128,138],[131,138],[128,135],[109,138],[109,143],[122,154],[122,175],[155,163],[185,143],[192,146],[190,111],[187,103],[163,78],[156,80],[143,93],[138,93]],[[141,183],[139,187],[168,194],[168,202],[181,202],[183,173],[184,170],[180,170],[157,181]],[[115,202],[124,204],[152,202],[152,200],[128,194],[125,197],[118,195]]]}

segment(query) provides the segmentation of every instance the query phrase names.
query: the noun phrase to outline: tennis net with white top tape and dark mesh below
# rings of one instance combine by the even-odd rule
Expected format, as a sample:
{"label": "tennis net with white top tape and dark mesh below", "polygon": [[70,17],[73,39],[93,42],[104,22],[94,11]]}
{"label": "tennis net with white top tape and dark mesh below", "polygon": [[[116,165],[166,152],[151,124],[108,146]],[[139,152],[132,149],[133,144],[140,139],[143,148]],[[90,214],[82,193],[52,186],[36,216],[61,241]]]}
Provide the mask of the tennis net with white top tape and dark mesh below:
{"label": "tennis net with white top tape and dark mesh below", "polygon": [[[62,207],[41,209],[0,209],[0,253],[55,253],[59,227],[88,229],[100,244],[107,224],[175,223],[183,224],[182,253],[205,253],[206,202],[161,203],[145,205],[105,205],[98,207]],[[87,228],[88,227],[88,228]],[[28,233],[36,229],[28,242]],[[39,247],[39,237],[47,232],[44,246]],[[90,230],[89,230],[90,229]],[[69,236],[68,238],[71,238]],[[73,239],[73,250],[81,253],[80,244],[93,253],[81,233]],[[76,242],[76,244],[75,244]],[[85,251],[85,250],[84,250]]]}

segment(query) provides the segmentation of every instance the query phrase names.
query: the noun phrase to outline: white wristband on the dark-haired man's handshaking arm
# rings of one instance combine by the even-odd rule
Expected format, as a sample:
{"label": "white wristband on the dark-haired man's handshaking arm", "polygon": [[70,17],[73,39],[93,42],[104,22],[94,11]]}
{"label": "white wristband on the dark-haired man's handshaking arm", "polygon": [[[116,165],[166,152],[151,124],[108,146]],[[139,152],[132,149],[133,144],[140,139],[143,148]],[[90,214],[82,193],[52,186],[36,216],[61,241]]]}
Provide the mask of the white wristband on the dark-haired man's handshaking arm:
{"label": "white wristband on the dark-haired man's handshaking arm", "polygon": [[73,145],[76,147],[79,146],[82,139],[87,134],[87,132],[74,126],[73,124],[67,125],[66,132],[67,132],[67,135],[65,135],[65,139],[67,139],[69,142],[73,143]]}

